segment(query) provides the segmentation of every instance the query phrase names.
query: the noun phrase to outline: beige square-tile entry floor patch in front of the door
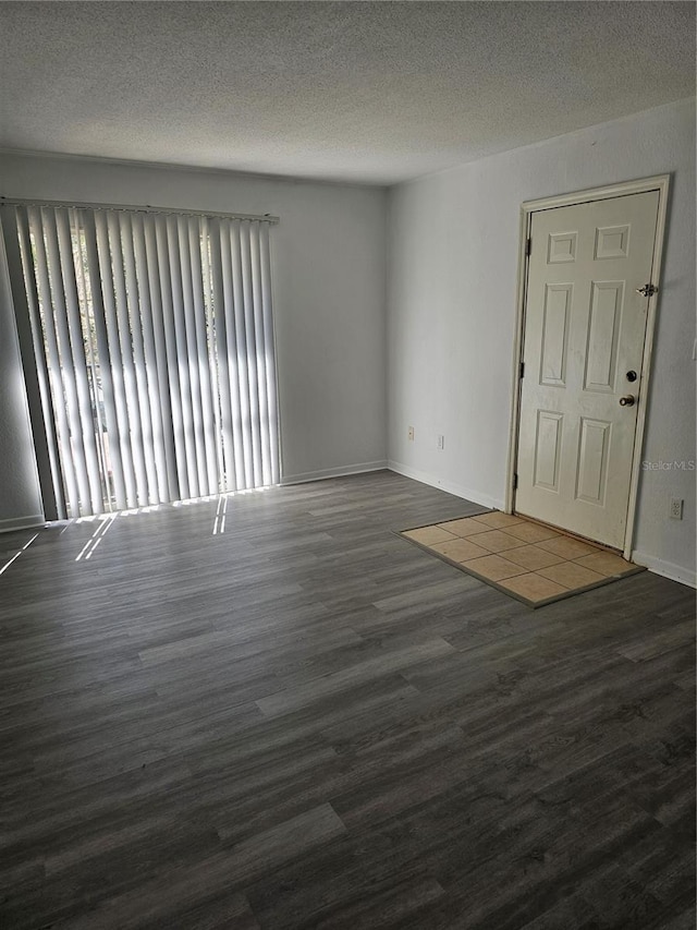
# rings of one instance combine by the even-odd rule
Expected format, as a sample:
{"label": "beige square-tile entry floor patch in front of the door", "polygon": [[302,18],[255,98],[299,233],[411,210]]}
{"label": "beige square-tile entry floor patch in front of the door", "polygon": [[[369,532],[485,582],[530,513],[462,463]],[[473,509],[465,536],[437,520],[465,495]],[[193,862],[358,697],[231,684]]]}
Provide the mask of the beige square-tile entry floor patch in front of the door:
{"label": "beige square-tile entry floor patch in front of the door", "polygon": [[643,570],[600,545],[499,510],[400,535],[533,607]]}

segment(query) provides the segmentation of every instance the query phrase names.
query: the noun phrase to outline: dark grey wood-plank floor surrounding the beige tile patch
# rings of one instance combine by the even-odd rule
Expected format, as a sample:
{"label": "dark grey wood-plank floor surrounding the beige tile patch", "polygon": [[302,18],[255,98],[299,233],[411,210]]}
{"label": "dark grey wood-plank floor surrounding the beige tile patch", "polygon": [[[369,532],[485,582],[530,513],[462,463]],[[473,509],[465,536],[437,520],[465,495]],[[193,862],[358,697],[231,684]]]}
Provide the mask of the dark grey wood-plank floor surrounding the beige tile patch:
{"label": "dark grey wood-plank floor surrounding the beige tile patch", "polygon": [[3,930],[693,930],[694,591],[531,611],[388,472],[217,509],[0,577]]}

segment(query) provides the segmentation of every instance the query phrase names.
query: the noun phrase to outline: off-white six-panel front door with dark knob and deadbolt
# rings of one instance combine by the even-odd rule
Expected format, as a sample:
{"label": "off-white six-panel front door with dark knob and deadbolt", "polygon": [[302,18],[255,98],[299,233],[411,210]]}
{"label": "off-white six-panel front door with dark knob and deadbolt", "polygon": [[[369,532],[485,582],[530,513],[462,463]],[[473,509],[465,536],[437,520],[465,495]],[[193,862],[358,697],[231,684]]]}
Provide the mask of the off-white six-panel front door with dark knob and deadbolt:
{"label": "off-white six-panel front door with dark knob and deadbolt", "polygon": [[624,545],[659,192],[533,214],[516,512]]}

